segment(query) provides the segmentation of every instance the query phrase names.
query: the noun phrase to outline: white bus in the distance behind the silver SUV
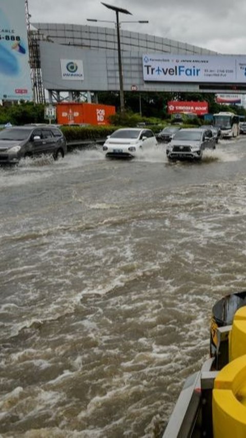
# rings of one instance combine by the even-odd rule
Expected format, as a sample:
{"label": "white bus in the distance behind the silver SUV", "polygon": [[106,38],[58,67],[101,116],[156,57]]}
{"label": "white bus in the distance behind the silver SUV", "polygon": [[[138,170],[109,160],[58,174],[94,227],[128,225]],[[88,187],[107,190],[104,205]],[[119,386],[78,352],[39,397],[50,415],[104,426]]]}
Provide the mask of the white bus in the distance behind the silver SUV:
{"label": "white bus in the distance behind the silver SUV", "polygon": [[214,114],[214,126],[220,128],[221,138],[233,138],[239,134],[239,116],[237,114],[221,111]]}

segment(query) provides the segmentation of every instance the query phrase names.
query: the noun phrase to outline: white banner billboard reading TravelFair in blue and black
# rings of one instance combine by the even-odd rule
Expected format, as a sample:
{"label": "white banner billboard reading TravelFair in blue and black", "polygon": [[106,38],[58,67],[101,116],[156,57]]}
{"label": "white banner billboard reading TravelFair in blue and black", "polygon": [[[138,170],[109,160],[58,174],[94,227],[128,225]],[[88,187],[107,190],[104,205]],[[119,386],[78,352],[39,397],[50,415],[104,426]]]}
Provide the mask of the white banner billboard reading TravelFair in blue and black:
{"label": "white banner billboard reading TravelFair in blue and black", "polygon": [[246,56],[142,55],[144,80],[246,83]]}

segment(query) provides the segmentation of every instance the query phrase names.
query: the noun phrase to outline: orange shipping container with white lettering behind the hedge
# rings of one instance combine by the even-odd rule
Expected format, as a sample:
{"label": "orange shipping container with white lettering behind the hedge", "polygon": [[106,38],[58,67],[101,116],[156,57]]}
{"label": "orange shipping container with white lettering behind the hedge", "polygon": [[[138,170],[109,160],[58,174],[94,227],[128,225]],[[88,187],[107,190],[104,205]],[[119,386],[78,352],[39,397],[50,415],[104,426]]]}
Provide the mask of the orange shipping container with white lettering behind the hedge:
{"label": "orange shipping container with white lettering behind the hedge", "polygon": [[115,114],[115,107],[111,105],[99,105],[98,103],[57,103],[57,123],[89,123],[104,126],[109,123],[109,116]]}

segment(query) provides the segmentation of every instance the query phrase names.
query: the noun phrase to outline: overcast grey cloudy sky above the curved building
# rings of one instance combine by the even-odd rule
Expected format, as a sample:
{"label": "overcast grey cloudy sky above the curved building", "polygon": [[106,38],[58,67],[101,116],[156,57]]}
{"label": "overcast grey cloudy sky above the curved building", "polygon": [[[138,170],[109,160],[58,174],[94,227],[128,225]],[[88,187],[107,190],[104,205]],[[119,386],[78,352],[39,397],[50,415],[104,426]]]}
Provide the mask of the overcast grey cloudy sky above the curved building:
{"label": "overcast grey cloudy sky above the curved building", "polygon": [[[246,53],[245,0],[106,0],[105,3],[132,13],[132,16],[120,14],[122,21],[149,20],[149,24],[141,25],[122,23],[125,30],[176,39],[219,53]],[[29,0],[29,12],[31,22],[86,25],[87,18],[115,19],[115,12],[98,0]]]}

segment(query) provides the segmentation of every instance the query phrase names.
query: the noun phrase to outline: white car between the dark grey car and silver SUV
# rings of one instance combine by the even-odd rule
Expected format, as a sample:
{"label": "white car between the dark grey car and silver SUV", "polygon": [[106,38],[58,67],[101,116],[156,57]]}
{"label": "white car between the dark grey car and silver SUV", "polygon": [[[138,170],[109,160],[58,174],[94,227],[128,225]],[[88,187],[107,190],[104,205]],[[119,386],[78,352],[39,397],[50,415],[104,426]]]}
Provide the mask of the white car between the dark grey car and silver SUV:
{"label": "white car between the dark grey car and silver SUV", "polygon": [[157,140],[151,129],[122,128],[107,138],[103,151],[106,157],[133,158],[156,145]]}

